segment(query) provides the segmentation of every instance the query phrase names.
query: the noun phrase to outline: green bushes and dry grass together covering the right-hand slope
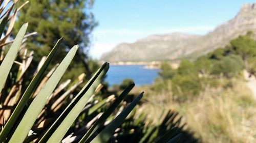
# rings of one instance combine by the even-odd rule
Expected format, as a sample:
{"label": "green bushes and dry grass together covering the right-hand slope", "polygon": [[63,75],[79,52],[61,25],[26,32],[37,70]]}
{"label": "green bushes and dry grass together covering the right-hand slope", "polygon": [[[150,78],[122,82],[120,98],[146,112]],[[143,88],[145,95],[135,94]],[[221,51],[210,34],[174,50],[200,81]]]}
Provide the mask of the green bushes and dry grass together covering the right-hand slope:
{"label": "green bushes and dry grass together covering the right-hand slope", "polygon": [[154,84],[139,88],[148,91],[142,109],[152,119],[159,109],[179,111],[202,142],[255,142],[256,127],[248,126],[256,119],[255,99],[243,77],[244,70],[255,74],[255,49],[248,32],[177,69],[162,63]]}

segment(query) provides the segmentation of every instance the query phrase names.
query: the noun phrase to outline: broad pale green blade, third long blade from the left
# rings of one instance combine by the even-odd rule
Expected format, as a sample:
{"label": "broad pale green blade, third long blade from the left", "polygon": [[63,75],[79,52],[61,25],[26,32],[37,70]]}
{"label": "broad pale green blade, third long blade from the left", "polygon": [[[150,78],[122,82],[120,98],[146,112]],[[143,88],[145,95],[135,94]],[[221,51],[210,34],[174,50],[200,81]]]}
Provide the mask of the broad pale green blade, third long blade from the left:
{"label": "broad pale green blade, third long blade from the left", "polygon": [[39,115],[42,108],[44,108],[47,99],[52,94],[54,89],[56,88],[59,80],[67,70],[69,64],[71,63],[74,55],[78,49],[78,45],[75,45],[63,61],[60,63],[56,71],[52,74],[49,80],[46,82],[44,87],[35,97],[35,99],[30,104],[28,110],[26,111],[22,121],[20,121],[18,127],[14,131],[9,143],[22,143],[24,139],[27,137],[30,129],[32,128],[34,122],[36,121],[37,116]]}

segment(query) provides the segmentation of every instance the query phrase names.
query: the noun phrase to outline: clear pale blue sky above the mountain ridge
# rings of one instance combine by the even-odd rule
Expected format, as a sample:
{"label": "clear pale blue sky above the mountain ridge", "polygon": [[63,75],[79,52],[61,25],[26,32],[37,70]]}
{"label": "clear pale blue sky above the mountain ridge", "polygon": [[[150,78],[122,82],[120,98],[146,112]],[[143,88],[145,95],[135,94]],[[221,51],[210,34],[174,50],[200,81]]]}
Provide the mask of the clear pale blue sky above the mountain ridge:
{"label": "clear pale blue sky above the mountain ridge", "polygon": [[152,34],[183,32],[204,35],[256,0],[95,0],[99,22],[92,37],[94,59],[122,42],[135,42]]}

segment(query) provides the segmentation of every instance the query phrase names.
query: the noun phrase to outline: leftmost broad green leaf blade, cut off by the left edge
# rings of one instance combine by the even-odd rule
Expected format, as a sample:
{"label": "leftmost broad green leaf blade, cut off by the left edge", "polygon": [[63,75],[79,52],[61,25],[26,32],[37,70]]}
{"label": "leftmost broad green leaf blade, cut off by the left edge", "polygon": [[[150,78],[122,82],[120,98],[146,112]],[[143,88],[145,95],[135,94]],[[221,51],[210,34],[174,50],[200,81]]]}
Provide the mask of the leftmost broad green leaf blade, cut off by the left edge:
{"label": "leftmost broad green leaf blade, cut off by the left edge", "polygon": [[12,43],[3,63],[0,66],[0,93],[4,88],[5,81],[8,77],[8,74],[12,68],[12,64],[17,56],[19,46],[22,44],[23,37],[26,33],[28,23],[25,23],[19,30],[14,42]]}

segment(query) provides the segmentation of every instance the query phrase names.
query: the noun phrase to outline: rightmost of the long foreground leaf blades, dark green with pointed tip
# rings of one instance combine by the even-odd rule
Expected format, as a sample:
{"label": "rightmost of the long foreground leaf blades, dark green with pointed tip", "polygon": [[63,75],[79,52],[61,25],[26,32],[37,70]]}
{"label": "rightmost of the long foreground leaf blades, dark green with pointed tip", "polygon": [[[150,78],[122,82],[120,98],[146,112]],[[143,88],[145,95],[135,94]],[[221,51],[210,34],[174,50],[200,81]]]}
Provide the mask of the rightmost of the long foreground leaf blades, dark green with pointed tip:
{"label": "rightmost of the long foreground leaf blades, dark green with pointed tip", "polygon": [[[106,126],[91,143],[105,143],[114,134],[115,130],[122,124],[124,119],[129,115],[133,108],[143,97],[143,93],[137,96],[108,126]],[[89,142],[89,141],[86,141]]]}

